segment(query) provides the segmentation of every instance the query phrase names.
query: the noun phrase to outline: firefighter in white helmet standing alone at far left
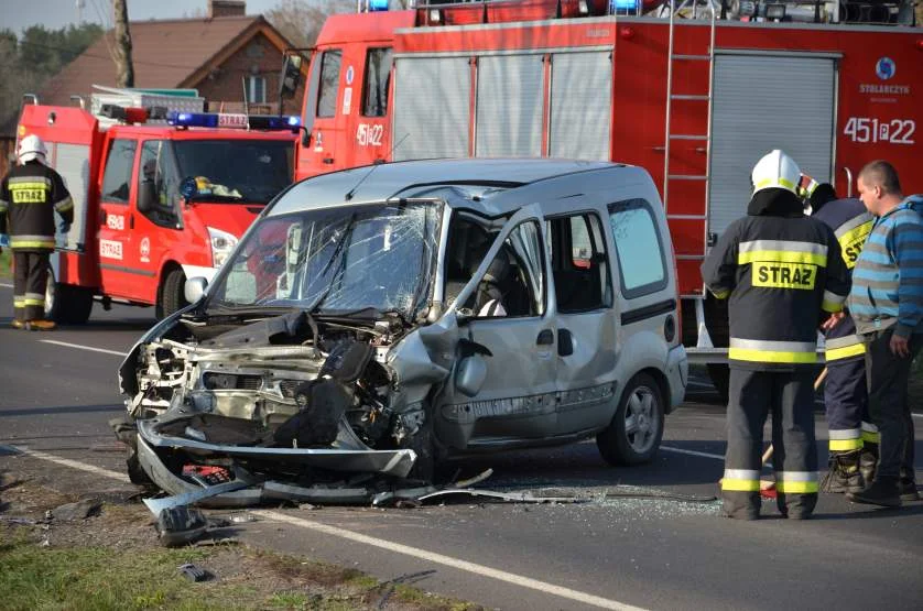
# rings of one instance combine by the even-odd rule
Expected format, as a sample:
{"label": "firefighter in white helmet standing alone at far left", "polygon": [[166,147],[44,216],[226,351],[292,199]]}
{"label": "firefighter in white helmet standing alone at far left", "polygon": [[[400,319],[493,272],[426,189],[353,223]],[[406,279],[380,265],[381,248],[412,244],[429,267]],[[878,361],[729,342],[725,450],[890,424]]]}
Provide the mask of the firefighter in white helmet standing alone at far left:
{"label": "firefighter in white helmet standing alone at far left", "polygon": [[[52,330],[45,319],[45,284],[48,255],[55,247],[57,211],[67,233],[74,220],[74,204],[61,175],[45,165],[45,143],[26,135],[19,143],[13,167],[0,183],[0,234],[13,251],[13,327]],[[7,232],[9,231],[9,236]]]}

